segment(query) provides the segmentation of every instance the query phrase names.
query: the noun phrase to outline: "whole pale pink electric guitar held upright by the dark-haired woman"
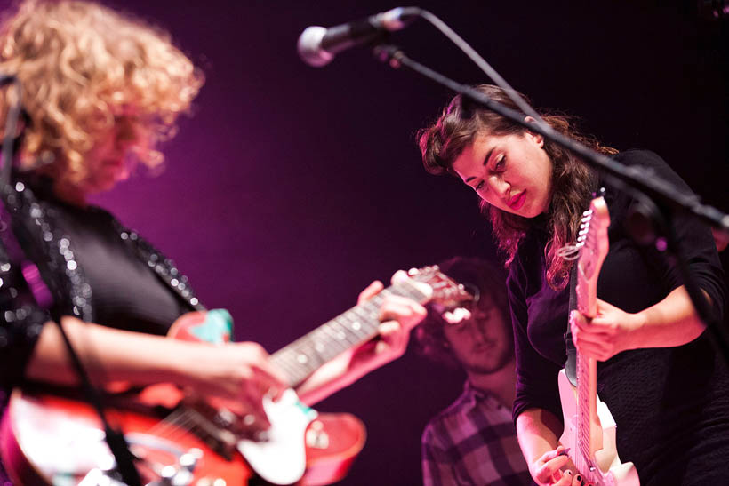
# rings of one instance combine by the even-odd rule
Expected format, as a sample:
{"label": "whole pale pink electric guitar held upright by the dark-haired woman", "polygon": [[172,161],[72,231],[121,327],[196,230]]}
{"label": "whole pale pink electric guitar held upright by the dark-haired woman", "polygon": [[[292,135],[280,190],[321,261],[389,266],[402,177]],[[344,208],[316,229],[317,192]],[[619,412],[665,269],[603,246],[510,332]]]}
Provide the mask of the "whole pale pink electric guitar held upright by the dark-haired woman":
{"label": "whole pale pink electric guitar held upright by the dark-haired woman", "polygon": [[[585,212],[581,226],[580,259],[577,261],[577,308],[588,317],[597,315],[597,277],[608,251],[610,215],[605,199],[597,197]],[[621,464],[615,448],[615,420],[607,405],[597,398],[597,362],[577,352],[577,388],[565,370],[559,372],[559,395],[565,416],[560,438],[570,448],[577,470],[596,486],[637,486],[633,463]]]}

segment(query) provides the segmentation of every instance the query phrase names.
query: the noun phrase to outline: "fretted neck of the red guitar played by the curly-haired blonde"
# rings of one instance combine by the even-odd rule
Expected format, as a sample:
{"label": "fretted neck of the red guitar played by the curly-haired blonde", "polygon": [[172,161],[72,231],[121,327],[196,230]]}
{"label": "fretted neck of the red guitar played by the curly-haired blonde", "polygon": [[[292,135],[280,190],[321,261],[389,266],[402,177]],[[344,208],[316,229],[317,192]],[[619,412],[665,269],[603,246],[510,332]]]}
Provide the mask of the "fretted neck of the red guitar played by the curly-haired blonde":
{"label": "fretted neck of the red guitar played by the curly-haired blonde", "polygon": [[364,304],[350,308],[276,351],[270,360],[284,371],[289,386],[299,385],[324,363],[373,339],[380,325],[382,300],[389,295],[406,297],[421,304],[429,300],[429,296],[410,281],[391,285]]}

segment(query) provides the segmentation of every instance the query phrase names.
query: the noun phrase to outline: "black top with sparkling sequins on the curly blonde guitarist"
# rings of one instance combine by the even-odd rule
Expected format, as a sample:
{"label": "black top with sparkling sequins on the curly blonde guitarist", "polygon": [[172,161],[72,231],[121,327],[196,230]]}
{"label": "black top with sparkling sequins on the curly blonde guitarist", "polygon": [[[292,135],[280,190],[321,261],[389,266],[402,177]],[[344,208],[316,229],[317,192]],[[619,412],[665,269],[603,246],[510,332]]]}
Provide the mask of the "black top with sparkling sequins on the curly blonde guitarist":
{"label": "black top with sparkling sequins on the curly blonde guitarist", "polygon": [[[52,307],[31,298],[20,262],[0,239],[0,418],[44,325],[61,315],[164,335],[180,315],[204,307],[170,259],[97,207],[63,203],[48,179],[18,179],[8,212],[26,227],[28,259],[44,269]],[[8,223],[0,230],[9,231]],[[0,485],[4,479],[0,458]]]}

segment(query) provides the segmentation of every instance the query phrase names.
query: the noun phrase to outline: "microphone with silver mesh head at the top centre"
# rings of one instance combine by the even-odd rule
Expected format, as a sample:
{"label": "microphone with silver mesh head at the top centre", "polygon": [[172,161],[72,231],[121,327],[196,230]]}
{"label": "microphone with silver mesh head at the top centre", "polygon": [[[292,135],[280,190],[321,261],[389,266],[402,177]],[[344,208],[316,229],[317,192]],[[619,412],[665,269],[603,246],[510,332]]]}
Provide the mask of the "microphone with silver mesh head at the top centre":
{"label": "microphone with silver mesh head at the top centre", "polygon": [[334,59],[334,54],[373,41],[385,32],[405,28],[419,9],[397,7],[338,26],[312,26],[304,29],[297,44],[299,57],[309,66],[320,68]]}

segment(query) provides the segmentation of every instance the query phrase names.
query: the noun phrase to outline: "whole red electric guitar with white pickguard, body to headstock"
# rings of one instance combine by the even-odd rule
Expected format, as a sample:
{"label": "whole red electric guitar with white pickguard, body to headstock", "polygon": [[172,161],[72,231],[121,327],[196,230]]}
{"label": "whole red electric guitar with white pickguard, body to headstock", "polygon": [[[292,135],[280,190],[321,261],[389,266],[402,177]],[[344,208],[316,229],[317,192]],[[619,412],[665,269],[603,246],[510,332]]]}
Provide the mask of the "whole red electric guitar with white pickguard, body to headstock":
{"label": "whole red electric guitar with white pickguard, body to headstock", "polygon": [[[437,267],[413,271],[411,280],[391,285],[271,355],[288,384],[297,386],[322,364],[376,336],[388,293],[445,306],[471,299]],[[220,310],[183,315],[169,335],[223,343],[232,333],[226,315]],[[145,484],[245,485],[256,475],[274,484],[330,484],[344,477],[365,444],[359,419],[319,414],[291,388],[277,402],[264,401],[271,422],[264,441],[234,432],[231,425],[241,421],[234,407],[172,385],[109,394],[107,405]],[[0,425],[0,457],[17,484],[121,484],[110,474],[115,464],[100,421],[76,391],[13,390]]]}

